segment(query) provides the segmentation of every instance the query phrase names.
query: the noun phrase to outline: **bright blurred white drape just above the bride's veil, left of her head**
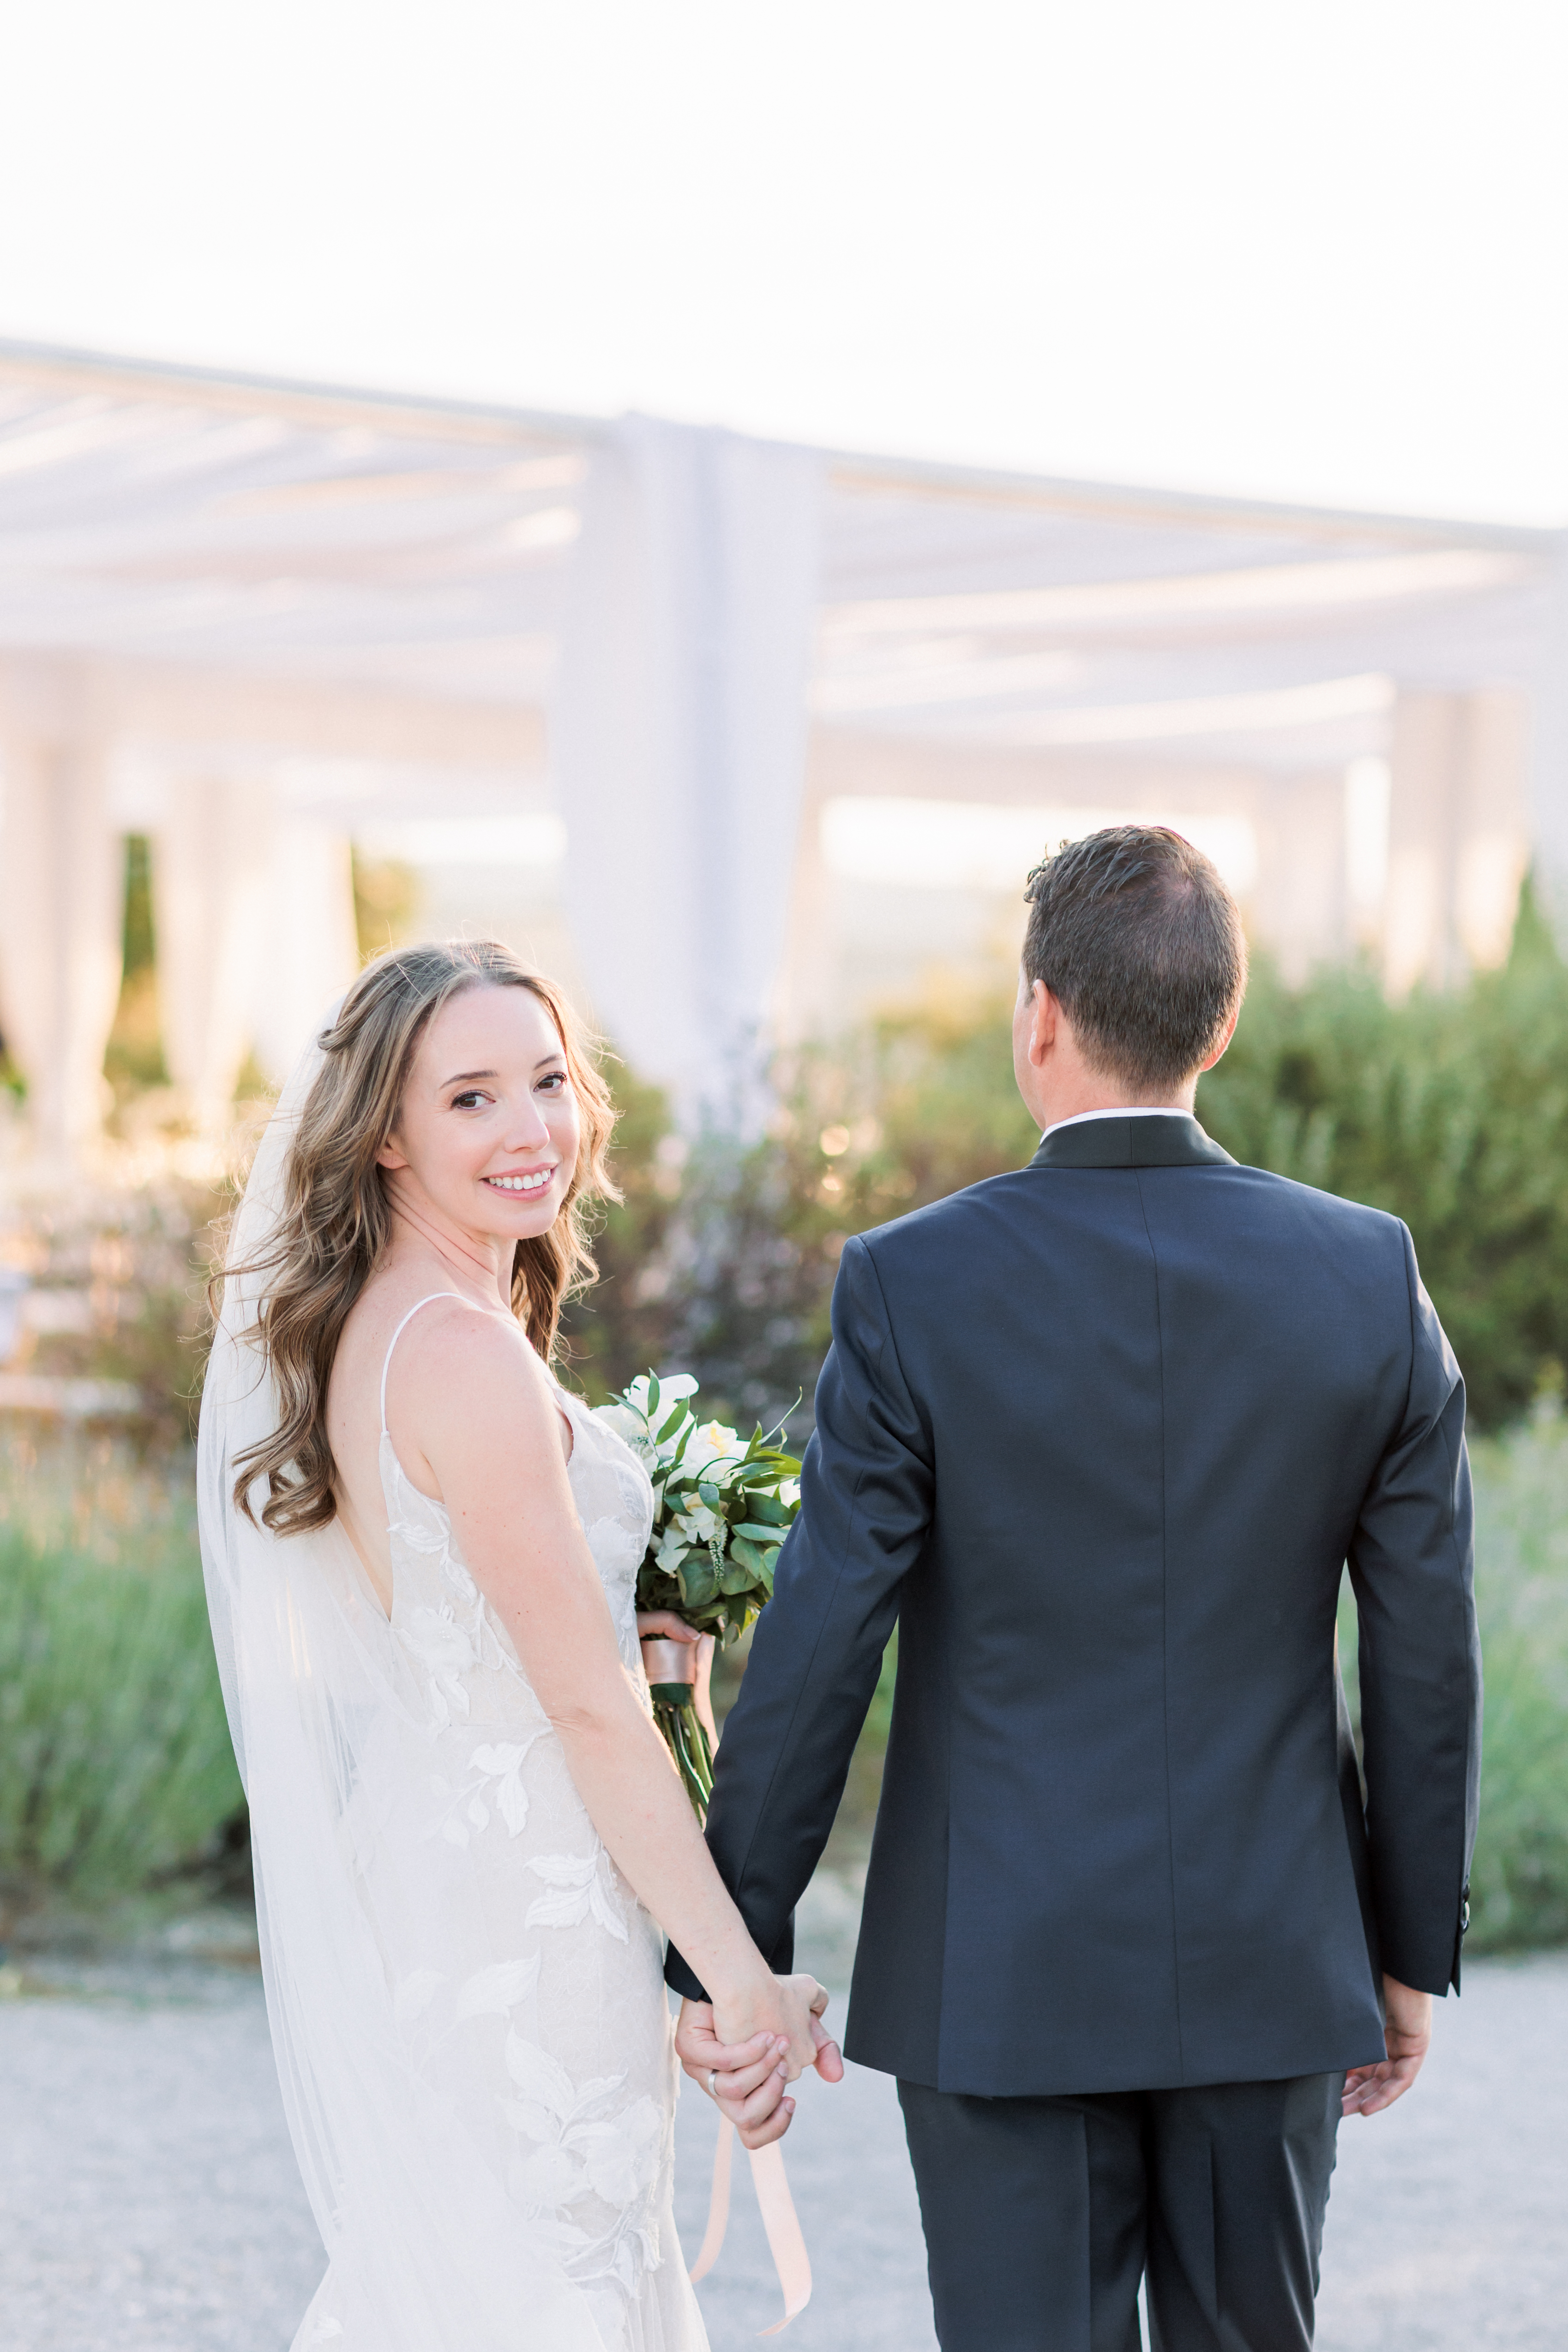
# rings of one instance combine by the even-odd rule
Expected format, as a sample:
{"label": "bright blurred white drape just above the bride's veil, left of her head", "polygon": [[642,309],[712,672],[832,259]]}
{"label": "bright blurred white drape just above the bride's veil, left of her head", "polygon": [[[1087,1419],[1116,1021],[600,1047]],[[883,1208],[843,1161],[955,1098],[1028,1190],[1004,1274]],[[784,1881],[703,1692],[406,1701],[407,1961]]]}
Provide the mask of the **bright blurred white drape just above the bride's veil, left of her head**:
{"label": "bright blurred white drape just above the bride's veil, left of her head", "polygon": [[266,861],[263,955],[252,997],[254,1054],[275,1084],[357,969],[348,835],[310,816],[282,816]]}

